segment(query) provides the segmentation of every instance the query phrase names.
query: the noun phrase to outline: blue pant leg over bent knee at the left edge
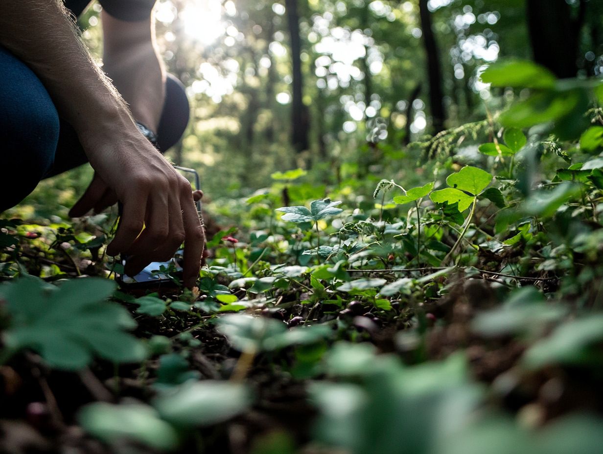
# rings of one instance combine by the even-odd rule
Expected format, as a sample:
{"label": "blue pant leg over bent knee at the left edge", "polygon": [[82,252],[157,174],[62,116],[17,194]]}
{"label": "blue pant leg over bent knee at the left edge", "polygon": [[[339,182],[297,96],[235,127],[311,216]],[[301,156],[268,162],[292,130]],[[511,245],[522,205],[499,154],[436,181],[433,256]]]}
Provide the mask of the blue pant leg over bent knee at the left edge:
{"label": "blue pant leg over bent knee at the left edge", "polygon": [[23,200],[50,171],[59,128],[42,82],[0,46],[0,212]]}

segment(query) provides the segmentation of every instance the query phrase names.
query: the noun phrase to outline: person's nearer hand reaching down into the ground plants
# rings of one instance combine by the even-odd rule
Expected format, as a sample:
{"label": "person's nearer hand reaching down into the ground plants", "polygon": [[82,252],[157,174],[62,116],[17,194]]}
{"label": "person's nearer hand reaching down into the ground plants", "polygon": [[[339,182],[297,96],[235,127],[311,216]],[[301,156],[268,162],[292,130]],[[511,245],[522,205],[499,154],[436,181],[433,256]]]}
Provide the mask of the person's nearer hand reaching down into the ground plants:
{"label": "person's nearer hand reaching down into the ground plants", "polygon": [[170,260],[184,242],[183,280],[194,286],[205,242],[194,201],[203,193],[194,197],[189,181],[137,130],[112,135],[83,137],[95,177],[71,215],[121,201],[121,222],[107,254],[127,255],[125,273],[135,276],[151,262]]}

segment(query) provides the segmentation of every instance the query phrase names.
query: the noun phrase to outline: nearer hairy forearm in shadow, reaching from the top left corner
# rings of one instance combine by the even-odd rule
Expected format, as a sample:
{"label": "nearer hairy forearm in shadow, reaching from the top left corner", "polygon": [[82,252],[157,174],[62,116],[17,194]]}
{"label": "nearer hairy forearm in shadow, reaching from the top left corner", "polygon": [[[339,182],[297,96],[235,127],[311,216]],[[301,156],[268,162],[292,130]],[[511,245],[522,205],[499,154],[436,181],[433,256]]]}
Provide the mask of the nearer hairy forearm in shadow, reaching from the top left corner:
{"label": "nearer hairy forearm in shadow, reaching from the top left corner", "polygon": [[59,0],[0,1],[0,45],[37,74],[80,139],[134,128],[127,106],[84,48]]}

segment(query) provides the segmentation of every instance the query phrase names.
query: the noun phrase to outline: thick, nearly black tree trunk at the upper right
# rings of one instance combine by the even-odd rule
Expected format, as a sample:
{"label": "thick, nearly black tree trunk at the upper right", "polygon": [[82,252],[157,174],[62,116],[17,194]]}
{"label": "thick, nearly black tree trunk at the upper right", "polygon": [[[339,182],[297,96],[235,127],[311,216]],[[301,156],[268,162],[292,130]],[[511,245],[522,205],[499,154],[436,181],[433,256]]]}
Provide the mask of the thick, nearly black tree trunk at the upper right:
{"label": "thick, nearly black tree trunk at the upper right", "polygon": [[586,1],[579,0],[578,16],[566,0],[527,0],[528,33],[534,61],[557,77],[576,77],[579,33]]}

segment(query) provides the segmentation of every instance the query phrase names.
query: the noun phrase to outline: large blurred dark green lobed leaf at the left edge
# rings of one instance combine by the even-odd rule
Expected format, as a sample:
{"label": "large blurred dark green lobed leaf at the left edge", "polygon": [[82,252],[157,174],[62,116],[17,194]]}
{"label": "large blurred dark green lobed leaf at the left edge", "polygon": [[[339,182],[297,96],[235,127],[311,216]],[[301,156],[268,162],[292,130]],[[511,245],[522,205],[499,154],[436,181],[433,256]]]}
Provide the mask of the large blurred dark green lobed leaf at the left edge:
{"label": "large blurred dark green lobed leaf at the left edge", "polygon": [[123,329],[136,326],[128,312],[103,301],[115,290],[108,279],[74,279],[60,287],[24,276],[0,288],[10,307],[5,343],[11,350],[32,348],[51,367],[77,370],[93,354],[109,361],[135,362],[144,345]]}

